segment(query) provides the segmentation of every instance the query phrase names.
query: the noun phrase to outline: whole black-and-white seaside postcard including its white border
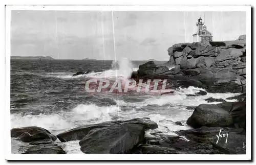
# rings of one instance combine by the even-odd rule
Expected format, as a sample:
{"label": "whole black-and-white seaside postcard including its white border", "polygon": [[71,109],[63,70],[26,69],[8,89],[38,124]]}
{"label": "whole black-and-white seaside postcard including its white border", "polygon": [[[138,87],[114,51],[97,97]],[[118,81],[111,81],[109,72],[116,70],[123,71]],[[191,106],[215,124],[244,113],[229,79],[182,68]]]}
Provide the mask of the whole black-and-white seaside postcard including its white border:
{"label": "whole black-and-white seaside postcard including its white border", "polygon": [[9,158],[251,159],[250,6],[6,12]]}

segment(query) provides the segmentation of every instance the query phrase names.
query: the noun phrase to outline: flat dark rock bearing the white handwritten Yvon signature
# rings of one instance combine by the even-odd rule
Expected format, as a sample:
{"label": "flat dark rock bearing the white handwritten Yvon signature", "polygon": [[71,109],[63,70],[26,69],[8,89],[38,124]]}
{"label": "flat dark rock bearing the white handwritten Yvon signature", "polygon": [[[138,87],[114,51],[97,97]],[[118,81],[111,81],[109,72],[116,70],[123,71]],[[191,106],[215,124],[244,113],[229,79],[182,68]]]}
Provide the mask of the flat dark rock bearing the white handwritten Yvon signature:
{"label": "flat dark rock bearing the white handwritten Yvon signature", "polygon": [[[212,150],[215,154],[245,154],[246,136],[239,134],[237,129],[201,127],[198,129],[181,130],[176,133],[190,139],[189,142],[195,144],[194,147],[201,146],[200,149],[203,148],[206,153],[211,153],[208,151]],[[180,146],[181,144],[175,144],[173,147],[182,149]],[[184,143],[183,148],[193,150],[194,147],[189,147],[189,145]]]}

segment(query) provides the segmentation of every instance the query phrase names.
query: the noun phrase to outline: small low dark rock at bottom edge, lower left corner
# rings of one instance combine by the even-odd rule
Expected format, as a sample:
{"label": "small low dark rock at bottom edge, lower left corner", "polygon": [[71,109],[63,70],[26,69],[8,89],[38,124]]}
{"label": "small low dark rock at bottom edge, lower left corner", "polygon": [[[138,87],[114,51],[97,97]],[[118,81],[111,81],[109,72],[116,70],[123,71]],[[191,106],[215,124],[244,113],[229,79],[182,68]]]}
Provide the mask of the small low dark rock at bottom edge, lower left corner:
{"label": "small low dark rock at bottom edge, lower left corner", "polygon": [[39,144],[31,146],[24,154],[66,154],[63,149],[56,144]]}

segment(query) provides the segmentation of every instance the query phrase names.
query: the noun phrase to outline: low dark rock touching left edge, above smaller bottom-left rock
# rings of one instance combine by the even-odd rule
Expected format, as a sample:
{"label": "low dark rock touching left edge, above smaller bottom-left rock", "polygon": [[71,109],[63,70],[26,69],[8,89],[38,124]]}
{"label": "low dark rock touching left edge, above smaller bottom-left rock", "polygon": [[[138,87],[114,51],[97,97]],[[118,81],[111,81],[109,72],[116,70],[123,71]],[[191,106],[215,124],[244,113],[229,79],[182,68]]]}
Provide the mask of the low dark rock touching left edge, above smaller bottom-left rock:
{"label": "low dark rock touching left edge, above smaller bottom-left rock", "polygon": [[11,137],[19,137],[23,142],[32,142],[33,140],[51,139],[56,140],[56,136],[48,130],[41,127],[20,127],[11,129]]}

